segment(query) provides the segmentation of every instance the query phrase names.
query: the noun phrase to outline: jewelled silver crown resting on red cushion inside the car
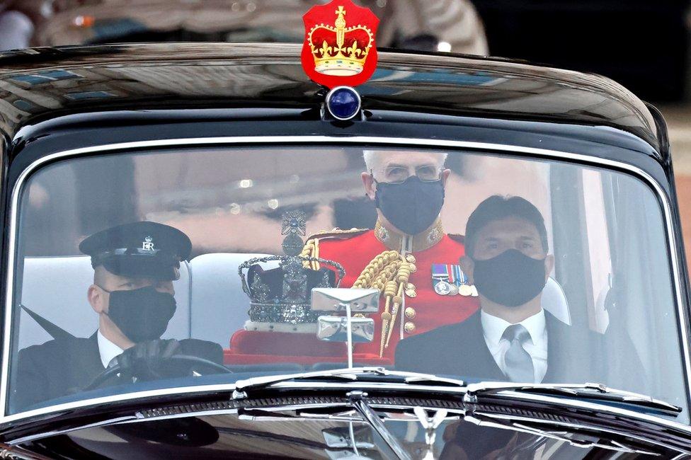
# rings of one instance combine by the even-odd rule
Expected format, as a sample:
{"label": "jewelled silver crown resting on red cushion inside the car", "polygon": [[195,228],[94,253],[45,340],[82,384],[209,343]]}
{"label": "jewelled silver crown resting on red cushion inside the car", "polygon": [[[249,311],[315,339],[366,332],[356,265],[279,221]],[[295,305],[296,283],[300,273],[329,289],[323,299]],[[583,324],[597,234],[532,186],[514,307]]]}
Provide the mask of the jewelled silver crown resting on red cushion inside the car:
{"label": "jewelled silver crown resting on red cushion inside the car", "polygon": [[[286,255],[252,258],[239,266],[242,289],[250,298],[251,322],[316,323],[321,312],[311,309],[312,289],[338,287],[343,280],[345,270],[333,260],[299,255],[304,244],[301,236],[305,234],[305,222],[304,212],[285,212],[281,234],[285,236],[282,248]],[[279,262],[278,268],[263,269],[263,264],[273,261]]]}

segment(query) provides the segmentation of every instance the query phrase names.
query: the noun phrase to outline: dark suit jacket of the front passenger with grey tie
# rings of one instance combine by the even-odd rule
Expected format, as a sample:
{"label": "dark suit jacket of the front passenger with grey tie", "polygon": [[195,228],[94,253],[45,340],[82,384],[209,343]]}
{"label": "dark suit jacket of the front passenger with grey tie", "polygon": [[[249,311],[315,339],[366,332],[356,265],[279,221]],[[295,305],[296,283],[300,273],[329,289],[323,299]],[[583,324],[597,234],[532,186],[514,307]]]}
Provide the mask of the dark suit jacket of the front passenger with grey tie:
{"label": "dark suit jacket of the front passenger with grey tie", "polygon": [[[641,362],[627,335],[618,331],[617,340],[609,340],[609,332],[603,335],[569,326],[547,310],[544,316],[547,374],[542,383],[598,382],[630,391],[645,388]],[[617,353],[617,364],[607,362],[608,347],[616,347],[610,353]],[[622,347],[630,352],[623,352]],[[447,374],[471,381],[507,380],[485,343],[480,311],[462,323],[402,340],[396,347],[396,369]]]}

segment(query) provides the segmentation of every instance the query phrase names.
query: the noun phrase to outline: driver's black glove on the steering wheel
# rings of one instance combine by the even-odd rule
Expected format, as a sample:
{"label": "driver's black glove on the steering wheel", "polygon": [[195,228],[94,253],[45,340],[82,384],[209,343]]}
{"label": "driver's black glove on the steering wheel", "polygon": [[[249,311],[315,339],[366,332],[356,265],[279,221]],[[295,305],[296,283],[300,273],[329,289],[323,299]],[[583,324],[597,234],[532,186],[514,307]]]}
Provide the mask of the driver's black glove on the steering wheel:
{"label": "driver's black glove on the steering wheel", "polygon": [[175,339],[148,340],[127,348],[115,357],[120,374],[137,379],[160,379],[161,363],[180,354],[180,343]]}

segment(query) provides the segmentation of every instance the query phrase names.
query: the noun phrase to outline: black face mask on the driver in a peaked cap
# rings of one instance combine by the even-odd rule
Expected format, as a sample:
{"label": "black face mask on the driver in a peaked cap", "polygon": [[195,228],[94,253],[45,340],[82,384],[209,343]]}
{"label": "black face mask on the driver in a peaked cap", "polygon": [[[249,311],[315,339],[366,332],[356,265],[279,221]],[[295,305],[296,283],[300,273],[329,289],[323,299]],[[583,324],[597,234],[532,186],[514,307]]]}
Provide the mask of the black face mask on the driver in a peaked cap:
{"label": "black face mask on the driver in a peaked cap", "polygon": [[113,291],[108,301],[108,316],[135,343],[161,338],[175,310],[175,298],[153,286]]}

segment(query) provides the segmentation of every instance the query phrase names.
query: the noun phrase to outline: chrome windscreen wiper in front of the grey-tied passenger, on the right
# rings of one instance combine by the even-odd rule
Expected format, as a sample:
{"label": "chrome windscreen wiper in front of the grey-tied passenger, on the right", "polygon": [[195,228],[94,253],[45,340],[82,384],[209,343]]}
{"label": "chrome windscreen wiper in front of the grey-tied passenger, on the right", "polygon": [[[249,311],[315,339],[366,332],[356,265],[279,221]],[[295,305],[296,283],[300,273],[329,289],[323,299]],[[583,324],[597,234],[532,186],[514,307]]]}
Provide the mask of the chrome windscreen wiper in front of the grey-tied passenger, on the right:
{"label": "chrome windscreen wiper in front of the grey-tied passenger, on the right", "polygon": [[503,382],[480,382],[469,384],[464,402],[476,403],[477,396],[489,396],[502,391],[531,393],[542,396],[569,396],[573,398],[592,399],[595,402],[624,403],[640,408],[658,410],[676,417],[682,408],[673,404],[632,391],[612,389],[603,384],[507,384]]}

